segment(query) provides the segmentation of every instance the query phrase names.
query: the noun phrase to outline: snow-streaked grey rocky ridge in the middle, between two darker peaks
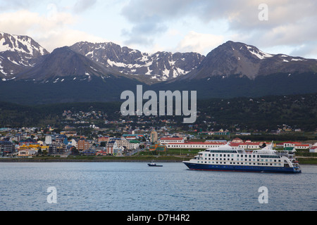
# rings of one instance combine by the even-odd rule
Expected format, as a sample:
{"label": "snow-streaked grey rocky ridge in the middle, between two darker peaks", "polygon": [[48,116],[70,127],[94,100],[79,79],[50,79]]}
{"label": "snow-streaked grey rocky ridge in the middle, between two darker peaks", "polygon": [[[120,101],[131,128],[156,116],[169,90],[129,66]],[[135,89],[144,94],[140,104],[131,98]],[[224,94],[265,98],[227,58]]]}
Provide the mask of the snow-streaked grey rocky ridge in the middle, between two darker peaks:
{"label": "snow-streaked grey rocky ridge in the middle, between two darker peaks", "polygon": [[126,75],[142,75],[154,82],[185,75],[197,68],[204,56],[199,53],[142,53],[126,46],[108,43],[78,42],[71,49]]}

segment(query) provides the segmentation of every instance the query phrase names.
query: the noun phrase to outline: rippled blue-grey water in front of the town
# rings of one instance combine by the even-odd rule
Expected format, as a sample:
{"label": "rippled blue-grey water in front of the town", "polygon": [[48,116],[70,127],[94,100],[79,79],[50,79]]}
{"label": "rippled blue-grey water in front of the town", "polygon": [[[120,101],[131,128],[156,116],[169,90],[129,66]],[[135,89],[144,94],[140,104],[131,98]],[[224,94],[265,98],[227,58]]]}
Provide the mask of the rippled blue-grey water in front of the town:
{"label": "rippled blue-grey water in front of the town", "polygon": [[[190,171],[182,163],[0,163],[1,211],[315,211],[317,166],[302,174]],[[49,204],[47,188],[56,188]],[[259,188],[268,203],[259,203]]]}

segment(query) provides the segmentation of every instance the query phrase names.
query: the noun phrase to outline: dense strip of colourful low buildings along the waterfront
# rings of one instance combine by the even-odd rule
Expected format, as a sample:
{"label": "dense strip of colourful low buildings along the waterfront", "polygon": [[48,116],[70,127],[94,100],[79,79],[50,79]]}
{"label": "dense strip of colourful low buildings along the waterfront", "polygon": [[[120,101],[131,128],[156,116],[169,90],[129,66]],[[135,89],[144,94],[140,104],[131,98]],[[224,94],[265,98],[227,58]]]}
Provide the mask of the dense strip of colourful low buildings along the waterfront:
{"label": "dense strip of colourful low buildings along the waterfront", "polygon": [[[67,113],[64,116],[67,117]],[[68,119],[70,119],[68,117]],[[184,155],[197,153],[206,148],[215,148],[230,141],[234,148],[255,150],[271,143],[268,141],[251,141],[251,134],[244,133],[244,139],[232,138],[228,130],[171,132],[166,127],[160,129],[134,129],[118,131],[114,135],[105,135],[99,127],[89,124],[94,136],[85,136],[66,125],[65,130],[56,133],[53,127],[45,129],[37,127],[23,127],[19,129],[0,129],[0,155],[2,158],[34,158],[44,155],[69,158],[70,156],[108,156],[124,157],[140,153],[151,155],[166,155],[175,153]],[[97,131],[97,132],[96,132]],[[113,134],[113,133],[112,133]],[[240,133],[241,134],[241,133]],[[212,137],[210,139],[210,137]],[[226,138],[227,137],[227,138]],[[219,138],[219,139],[215,139]],[[297,150],[311,153],[316,157],[317,141],[305,143],[298,141],[275,141],[274,147],[280,150]],[[187,155],[189,156],[189,155]]]}

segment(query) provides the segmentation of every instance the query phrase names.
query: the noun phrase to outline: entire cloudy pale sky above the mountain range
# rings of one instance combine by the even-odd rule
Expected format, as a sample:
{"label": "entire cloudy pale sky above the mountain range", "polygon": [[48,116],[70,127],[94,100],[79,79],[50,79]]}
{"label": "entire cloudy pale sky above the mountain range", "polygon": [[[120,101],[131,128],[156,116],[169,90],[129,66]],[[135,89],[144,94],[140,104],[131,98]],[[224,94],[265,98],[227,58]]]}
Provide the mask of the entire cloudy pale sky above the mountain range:
{"label": "entire cloudy pale sky above the mountain range", "polygon": [[316,0],[0,0],[0,32],[47,51],[77,41],[142,52],[197,52],[226,41],[317,58]]}

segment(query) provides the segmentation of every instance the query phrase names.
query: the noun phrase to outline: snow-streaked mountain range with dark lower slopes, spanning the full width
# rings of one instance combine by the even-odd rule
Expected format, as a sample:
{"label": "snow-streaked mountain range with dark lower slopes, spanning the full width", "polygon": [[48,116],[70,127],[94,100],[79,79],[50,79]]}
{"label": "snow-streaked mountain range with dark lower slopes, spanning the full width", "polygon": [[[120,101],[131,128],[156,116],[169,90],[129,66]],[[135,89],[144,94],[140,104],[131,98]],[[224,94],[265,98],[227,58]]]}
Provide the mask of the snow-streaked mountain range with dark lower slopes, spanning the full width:
{"label": "snow-streaked mountain range with dark lower slopes, spanning the full width", "polygon": [[198,98],[316,92],[317,60],[265,53],[227,41],[199,53],[142,53],[112,42],[46,51],[27,36],[0,32],[0,95],[15,103],[117,101],[122,91],[197,90]]}

